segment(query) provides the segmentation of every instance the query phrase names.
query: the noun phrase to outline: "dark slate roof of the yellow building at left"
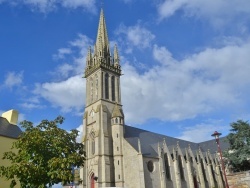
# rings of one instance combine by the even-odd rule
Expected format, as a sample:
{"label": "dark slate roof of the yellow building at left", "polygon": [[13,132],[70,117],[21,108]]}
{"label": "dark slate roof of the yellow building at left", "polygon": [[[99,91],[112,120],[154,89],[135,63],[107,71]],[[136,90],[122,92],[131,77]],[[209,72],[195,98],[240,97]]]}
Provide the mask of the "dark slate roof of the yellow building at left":
{"label": "dark slate roof of the yellow building at left", "polygon": [[21,133],[17,125],[10,124],[7,119],[0,117],[0,136],[18,138]]}

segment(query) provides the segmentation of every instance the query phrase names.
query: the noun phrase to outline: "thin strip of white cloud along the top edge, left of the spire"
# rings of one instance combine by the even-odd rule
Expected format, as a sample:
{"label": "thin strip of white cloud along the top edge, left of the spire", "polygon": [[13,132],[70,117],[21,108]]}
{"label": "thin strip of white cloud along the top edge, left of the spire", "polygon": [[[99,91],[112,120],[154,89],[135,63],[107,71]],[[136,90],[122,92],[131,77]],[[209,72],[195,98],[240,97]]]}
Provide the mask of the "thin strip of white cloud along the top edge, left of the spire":
{"label": "thin strip of white cloud along the top edge, left of the spire", "polygon": [[8,2],[11,5],[24,4],[29,6],[33,11],[38,10],[44,13],[53,11],[58,7],[83,8],[89,12],[96,12],[95,0],[0,0],[1,2]]}

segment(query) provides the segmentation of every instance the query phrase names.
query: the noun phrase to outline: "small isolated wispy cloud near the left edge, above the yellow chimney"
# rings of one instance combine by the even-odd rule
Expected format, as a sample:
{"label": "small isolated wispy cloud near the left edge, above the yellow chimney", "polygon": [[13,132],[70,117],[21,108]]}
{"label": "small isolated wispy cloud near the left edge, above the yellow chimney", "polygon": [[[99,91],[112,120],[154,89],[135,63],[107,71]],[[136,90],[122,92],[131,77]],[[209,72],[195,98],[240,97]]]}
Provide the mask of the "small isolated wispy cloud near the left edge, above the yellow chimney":
{"label": "small isolated wispy cloud near the left edge, above the yellow chimney", "polygon": [[20,86],[23,82],[23,72],[8,72],[5,76],[4,86],[12,89],[14,86]]}

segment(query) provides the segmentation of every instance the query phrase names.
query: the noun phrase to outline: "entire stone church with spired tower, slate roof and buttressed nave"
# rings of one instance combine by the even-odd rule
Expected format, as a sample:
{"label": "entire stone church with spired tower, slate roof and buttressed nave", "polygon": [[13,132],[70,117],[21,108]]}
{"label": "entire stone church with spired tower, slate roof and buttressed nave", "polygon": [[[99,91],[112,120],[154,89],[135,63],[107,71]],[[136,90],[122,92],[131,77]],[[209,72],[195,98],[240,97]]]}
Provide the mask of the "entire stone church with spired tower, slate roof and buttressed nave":
{"label": "entire stone church with spired tower, slate roof and buttressed nave", "polygon": [[[86,59],[86,161],[80,187],[225,187],[214,140],[193,143],[125,125],[122,69],[113,48],[101,10],[96,43]],[[228,145],[222,140],[224,149]]]}

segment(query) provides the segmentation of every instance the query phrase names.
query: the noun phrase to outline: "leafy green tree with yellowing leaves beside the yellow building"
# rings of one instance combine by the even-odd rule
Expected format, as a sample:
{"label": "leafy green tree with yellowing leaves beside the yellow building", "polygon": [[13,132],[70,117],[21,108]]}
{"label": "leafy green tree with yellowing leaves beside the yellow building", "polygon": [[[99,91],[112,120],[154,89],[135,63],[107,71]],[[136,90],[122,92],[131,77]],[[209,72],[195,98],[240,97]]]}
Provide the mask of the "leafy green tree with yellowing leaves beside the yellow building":
{"label": "leafy green tree with yellowing leaves beside the yellow building", "polygon": [[45,188],[56,183],[72,182],[72,166],[84,164],[83,144],[77,143],[77,130],[67,132],[58,128],[64,118],[54,121],[42,120],[37,126],[23,121],[24,129],[12,149],[4,153],[3,159],[10,160],[10,166],[0,167],[0,176],[11,181],[10,187],[18,180],[23,188]]}

